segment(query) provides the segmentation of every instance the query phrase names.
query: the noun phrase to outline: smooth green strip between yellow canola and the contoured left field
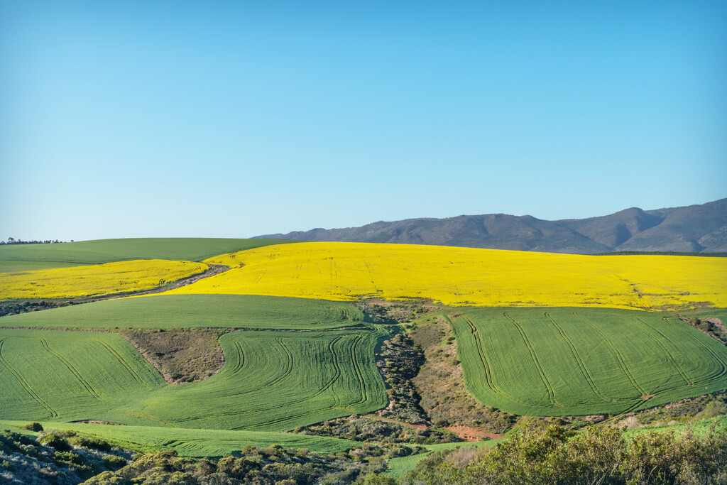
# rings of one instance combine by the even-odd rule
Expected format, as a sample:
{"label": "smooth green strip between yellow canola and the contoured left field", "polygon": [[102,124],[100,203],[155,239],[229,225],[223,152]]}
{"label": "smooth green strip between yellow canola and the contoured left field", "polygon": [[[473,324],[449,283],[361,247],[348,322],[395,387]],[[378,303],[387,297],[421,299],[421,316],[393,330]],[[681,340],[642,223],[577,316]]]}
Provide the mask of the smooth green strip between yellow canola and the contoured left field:
{"label": "smooth green strip between yellow canola and the contoured left field", "polygon": [[361,326],[350,303],[240,294],[155,295],[4,316],[0,326],[113,329],[225,327],[334,329]]}

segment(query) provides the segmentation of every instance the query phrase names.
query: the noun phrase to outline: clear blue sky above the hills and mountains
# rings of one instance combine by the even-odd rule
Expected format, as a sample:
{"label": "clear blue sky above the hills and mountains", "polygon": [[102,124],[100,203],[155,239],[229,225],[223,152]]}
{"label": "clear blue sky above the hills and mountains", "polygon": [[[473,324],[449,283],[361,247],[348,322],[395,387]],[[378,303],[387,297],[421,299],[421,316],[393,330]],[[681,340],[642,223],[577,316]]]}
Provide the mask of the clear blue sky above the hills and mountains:
{"label": "clear blue sky above the hills and mountains", "polygon": [[727,196],[726,1],[0,0],[0,239]]}

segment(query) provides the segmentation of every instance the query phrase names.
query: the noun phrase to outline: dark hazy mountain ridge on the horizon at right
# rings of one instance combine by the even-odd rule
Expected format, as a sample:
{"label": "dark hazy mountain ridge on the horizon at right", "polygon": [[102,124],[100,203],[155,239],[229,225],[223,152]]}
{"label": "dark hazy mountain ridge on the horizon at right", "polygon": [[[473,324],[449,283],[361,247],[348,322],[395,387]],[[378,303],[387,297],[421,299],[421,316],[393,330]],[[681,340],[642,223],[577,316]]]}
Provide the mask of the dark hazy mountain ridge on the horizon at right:
{"label": "dark hazy mountain ridge on the horizon at right", "polygon": [[406,219],[358,228],[294,231],[265,239],[433,244],[521,251],[727,252],[727,199],[686,207],[624,209],[587,219],[541,220],[529,215],[460,215]]}

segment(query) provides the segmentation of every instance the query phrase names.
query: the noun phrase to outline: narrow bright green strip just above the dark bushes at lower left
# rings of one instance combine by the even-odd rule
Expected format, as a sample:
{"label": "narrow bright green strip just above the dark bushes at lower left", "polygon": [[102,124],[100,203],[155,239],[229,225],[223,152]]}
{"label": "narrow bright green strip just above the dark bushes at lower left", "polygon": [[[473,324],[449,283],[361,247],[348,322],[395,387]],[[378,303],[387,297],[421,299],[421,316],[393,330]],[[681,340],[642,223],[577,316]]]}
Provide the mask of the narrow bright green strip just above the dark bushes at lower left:
{"label": "narrow bright green strip just above the dark bushes at lower left", "polygon": [[[26,421],[0,421],[0,425],[22,430]],[[222,457],[238,452],[244,446],[269,448],[307,448],[316,453],[337,453],[353,448],[356,441],[324,436],[305,436],[266,431],[198,430],[161,428],[155,426],[116,426],[80,422],[41,422],[44,430],[73,430],[83,436],[94,436],[116,446],[138,452],[174,449],[182,457]],[[27,432],[26,432],[27,433]]]}

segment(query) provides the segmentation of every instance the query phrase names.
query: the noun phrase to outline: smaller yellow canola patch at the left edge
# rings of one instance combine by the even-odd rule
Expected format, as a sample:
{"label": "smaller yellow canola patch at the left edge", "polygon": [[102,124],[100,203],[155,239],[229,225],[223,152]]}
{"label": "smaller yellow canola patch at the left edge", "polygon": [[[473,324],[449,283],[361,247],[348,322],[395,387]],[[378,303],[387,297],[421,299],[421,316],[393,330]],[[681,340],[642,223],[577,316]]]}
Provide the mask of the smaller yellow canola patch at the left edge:
{"label": "smaller yellow canola patch at the left edge", "polygon": [[201,262],[135,260],[0,273],[0,300],[96,297],[156,288],[207,270]]}

